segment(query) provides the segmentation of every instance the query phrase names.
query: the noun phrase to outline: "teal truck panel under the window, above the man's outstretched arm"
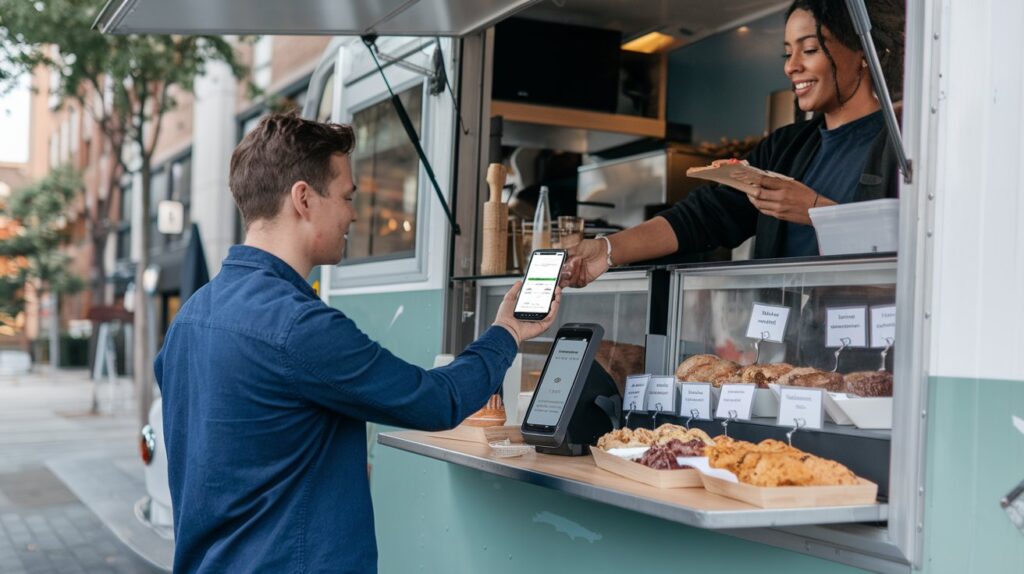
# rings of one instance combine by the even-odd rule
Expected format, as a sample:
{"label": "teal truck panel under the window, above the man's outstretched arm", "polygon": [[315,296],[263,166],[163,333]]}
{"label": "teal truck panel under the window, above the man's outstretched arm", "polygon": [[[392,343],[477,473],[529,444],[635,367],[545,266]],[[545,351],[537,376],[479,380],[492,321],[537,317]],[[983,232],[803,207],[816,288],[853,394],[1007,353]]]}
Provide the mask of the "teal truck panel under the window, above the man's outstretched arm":
{"label": "teal truck panel under the window, above the man's outstretched arm", "polygon": [[429,368],[441,352],[444,294],[413,291],[331,298],[371,339],[395,356]]}

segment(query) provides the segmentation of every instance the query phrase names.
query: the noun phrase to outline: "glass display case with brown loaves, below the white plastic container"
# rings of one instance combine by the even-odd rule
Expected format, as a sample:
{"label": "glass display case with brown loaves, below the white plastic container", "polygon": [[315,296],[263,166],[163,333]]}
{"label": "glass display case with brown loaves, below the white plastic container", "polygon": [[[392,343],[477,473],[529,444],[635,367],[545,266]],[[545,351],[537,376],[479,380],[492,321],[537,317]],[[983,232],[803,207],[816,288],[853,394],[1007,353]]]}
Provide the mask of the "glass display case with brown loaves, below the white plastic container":
{"label": "glass display case with brown loaves, below the white plastic container", "polygon": [[[858,426],[851,424],[849,418],[843,420],[842,409],[828,411],[821,429],[800,431],[795,435],[794,444],[843,462],[858,475],[878,483],[880,494],[887,495],[892,394],[893,390],[899,392],[899,382],[892,385],[891,376],[895,344],[895,258],[813,258],[770,264],[733,262],[680,266],[671,269],[669,294],[669,351],[663,372],[675,372],[686,381],[686,373],[680,372],[680,369],[686,370],[684,361],[697,355],[714,355],[730,365],[726,367],[726,376],[701,381],[712,383],[716,389],[723,384],[740,382],[737,373],[743,371],[735,367],[755,363],[786,363],[782,370],[792,366],[801,369],[802,374],[816,377],[818,383],[802,383],[806,379],[779,376],[758,382],[756,392],[770,395],[769,387],[777,390],[768,385],[773,382],[838,393],[823,399],[835,398],[833,406],[845,408],[849,401],[844,402],[844,399],[857,399],[851,410],[867,407],[868,413],[882,422]],[[758,324],[762,316],[759,313],[770,313],[778,322],[771,328],[762,328],[763,325]],[[851,389],[847,384],[852,380],[848,376],[854,372],[874,379],[886,378],[889,387],[876,389],[868,400],[860,400],[865,397],[855,392],[866,394],[866,391]],[[848,392],[850,394],[846,394]],[[753,416],[750,421],[730,423],[730,436],[753,441],[785,440],[785,433],[794,425],[777,424],[777,398],[776,393],[774,411],[771,411],[771,404],[762,405],[759,411],[759,397],[756,397]],[[766,412],[766,408],[769,411]],[[718,422],[699,425],[711,433],[722,432]]]}

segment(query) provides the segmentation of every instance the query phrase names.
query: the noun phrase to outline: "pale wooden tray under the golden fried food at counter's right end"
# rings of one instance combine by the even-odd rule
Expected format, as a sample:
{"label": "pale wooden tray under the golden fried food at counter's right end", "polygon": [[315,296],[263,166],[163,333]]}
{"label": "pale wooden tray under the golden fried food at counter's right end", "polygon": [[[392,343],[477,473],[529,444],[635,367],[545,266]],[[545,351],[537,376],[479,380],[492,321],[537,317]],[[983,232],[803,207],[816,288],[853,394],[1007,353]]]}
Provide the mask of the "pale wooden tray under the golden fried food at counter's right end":
{"label": "pale wooden tray under the golden fried food at counter's right end", "polygon": [[873,504],[879,485],[858,479],[849,486],[753,486],[700,475],[708,492],[749,502],[762,509],[807,509]]}

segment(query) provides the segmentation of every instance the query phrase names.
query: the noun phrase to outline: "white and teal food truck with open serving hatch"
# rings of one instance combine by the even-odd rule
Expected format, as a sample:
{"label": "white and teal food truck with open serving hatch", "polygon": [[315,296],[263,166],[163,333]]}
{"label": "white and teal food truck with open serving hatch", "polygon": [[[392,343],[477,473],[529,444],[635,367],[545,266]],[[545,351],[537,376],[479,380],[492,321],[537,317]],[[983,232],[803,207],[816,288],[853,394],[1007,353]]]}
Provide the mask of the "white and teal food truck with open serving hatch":
{"label": "white and teal food truck with open serving hatch", "polygon": [[[700,183],[687,168],[741,156],[742,136],[800,120],[778,60],[787,4],[113,0],[97,27],[338,37],[305,115],[355,126],[356,183],[380,205],[353,225],[345,262],[316,280],[328,304],[430,367],[490,324],[528,257],[523,233],[536,230],[513,217],[503,271],[481,273],[488,166],[511,170],[502,201],[511,191],[529,204],[544,184],[553,214],[591,222],[587,236],[642,221]],[[631,376],[668,381],[663,402],[645,400],[648,381],[616,424],[788,435],[877,485],[869,499],[739,499],[609,472],[596,447],[502,458],[484,442],[378,427],[368,441],[380,570],[1024,571],[1022,21],[1010,0],[906,2],[900,122],[887,128],[906,159],[898,210],[891,228],[872,223],[879,211],[860,233],[892,231],[898,249],[614,268],[565,291],[556,325],[522,345],[506,378],[513,425],[558,329],[600,325],[592,355],[620,393]],[[622,49],[651,32],[660,47]],[[759,313],[779,312],[778,328],[755,328]],[[856,337],[833,341],[843,326]],[[752,387],[749,414],[712,412],[708,397],[694,415],[687,390],[723,404],[728,387],[676,380],[701,355],[831,374],[881,367],[891,397],[818,393],[815,423],[801,425],[779,414],[771,388]]]}

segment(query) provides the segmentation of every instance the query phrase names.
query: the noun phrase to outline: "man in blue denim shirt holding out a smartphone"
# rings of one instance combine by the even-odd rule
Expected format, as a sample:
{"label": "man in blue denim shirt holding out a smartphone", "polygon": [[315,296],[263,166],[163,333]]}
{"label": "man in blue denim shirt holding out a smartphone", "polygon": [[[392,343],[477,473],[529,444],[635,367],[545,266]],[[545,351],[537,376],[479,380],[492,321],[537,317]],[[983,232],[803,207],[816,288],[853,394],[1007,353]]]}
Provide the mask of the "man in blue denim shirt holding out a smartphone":
{"label": "man in blue denim shirt holding out a smartphone", "polygon": [[156,361],[175,572],[373,572],[366,422],[455,427],[501,386],[512,316],[451,365],[424,370],[325,305],[304,277],[333,265],[355,220],[351,128],[270,116],[234,149],[246,242],[181,308]]}

